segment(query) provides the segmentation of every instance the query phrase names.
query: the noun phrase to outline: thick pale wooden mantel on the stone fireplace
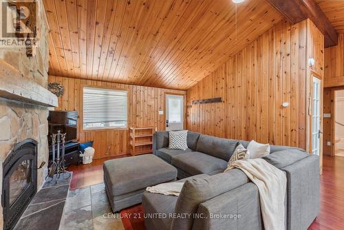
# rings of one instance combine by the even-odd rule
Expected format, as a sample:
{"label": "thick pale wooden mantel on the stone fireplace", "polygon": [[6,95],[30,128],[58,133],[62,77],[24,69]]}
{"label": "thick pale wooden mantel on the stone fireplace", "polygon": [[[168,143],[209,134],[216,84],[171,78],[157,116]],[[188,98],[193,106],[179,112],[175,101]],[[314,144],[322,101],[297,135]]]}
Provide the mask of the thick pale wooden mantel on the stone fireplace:
{"label": "thick pale wooden mantel on the stone fireplace", "polygon": [[0,60],[0,97],[47,107],[58,106],[57,97],[52,92],[3,60]]}

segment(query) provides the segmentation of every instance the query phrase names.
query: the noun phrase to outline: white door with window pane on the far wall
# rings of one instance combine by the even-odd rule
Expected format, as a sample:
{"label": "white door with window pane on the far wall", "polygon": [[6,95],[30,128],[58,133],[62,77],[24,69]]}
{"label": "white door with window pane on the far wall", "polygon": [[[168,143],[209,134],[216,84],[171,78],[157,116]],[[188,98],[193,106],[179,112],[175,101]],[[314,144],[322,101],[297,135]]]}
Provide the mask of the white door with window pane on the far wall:
{"label": "white door with window pane on the far wall", "polygon": [[166,94],[166,130],[184,129],[184,96]]}

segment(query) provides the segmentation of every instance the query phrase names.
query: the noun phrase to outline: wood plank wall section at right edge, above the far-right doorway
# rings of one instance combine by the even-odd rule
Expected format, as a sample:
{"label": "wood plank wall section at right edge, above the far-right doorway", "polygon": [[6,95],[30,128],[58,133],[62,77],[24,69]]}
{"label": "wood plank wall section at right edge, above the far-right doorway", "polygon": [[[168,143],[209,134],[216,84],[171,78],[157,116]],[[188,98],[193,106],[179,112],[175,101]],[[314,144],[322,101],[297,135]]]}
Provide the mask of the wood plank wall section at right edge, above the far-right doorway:
{"label": "wood plank wall section at right edge, above the far-right doorway", "polygon": [[338,45],[325,49],[324,87],[344,86],[344,34],[339,34]]}

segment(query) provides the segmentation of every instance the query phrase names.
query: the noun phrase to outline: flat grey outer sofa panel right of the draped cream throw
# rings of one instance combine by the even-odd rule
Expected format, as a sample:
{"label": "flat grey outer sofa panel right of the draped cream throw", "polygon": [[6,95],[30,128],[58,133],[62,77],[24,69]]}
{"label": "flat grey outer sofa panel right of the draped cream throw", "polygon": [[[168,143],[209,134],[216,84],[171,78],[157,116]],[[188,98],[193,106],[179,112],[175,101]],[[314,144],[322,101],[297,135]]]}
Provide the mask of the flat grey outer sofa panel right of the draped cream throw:
{"label": "flat grey outer sofa panel right of the draped cream throw", "polygon": [[319,214],[319,156],[281,169],[287,176],[287,229],[308,229]]}

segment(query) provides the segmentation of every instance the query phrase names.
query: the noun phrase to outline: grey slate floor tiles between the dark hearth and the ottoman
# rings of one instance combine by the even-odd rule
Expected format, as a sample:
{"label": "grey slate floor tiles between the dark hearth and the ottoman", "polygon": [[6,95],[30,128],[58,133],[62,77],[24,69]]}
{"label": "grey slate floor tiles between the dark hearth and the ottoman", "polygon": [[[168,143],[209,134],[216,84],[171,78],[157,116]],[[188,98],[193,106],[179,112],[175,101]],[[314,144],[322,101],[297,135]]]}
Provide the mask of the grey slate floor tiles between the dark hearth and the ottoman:
{"label": "grey slate floor tiles between the dark hearth and the ottoman", "polygon": [[124,230],[119,214],[111,212],[103,183],[69,190],[60,224],[60,230],[67,229]]}

